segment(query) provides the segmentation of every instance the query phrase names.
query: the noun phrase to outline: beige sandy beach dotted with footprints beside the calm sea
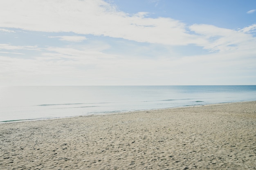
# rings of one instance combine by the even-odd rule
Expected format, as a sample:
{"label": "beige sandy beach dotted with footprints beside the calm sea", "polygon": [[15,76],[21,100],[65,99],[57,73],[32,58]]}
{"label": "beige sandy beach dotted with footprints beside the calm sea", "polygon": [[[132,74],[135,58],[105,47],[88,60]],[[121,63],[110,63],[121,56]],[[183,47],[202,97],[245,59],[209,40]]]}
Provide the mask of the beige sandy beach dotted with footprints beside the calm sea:
{"label": "beige sandy beach dotted with footprints beside the calm sea", "polygon": [[256,101],[2,123],[0,169],[256,169]]}

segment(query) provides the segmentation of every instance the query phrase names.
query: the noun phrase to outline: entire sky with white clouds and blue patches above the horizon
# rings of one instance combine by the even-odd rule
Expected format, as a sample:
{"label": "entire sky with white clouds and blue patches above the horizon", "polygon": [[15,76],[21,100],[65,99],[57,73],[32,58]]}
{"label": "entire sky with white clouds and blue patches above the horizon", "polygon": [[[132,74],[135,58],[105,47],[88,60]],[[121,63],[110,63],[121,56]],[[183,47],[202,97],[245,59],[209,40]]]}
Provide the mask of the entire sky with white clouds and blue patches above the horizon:
{"label": "entire sky with white clouds and blue patches above the horizon", "polygon": [[256,85],[256,0],[1,0],[0,86]]}

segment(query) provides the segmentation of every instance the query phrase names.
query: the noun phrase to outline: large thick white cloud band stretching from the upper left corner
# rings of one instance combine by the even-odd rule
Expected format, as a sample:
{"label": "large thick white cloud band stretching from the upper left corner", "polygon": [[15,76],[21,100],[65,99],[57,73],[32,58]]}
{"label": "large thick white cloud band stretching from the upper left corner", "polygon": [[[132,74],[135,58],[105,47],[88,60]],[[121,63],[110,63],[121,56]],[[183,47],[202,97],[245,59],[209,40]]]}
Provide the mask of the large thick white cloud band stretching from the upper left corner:
{"label": "large thick white cloud band stretching from the upper left corner", "polygon": [[104,35],[170,45],[203,44],[186,25],[171,18],[130,16],[103,0],[8,0],[0,2],[2,27],[45,32]]}

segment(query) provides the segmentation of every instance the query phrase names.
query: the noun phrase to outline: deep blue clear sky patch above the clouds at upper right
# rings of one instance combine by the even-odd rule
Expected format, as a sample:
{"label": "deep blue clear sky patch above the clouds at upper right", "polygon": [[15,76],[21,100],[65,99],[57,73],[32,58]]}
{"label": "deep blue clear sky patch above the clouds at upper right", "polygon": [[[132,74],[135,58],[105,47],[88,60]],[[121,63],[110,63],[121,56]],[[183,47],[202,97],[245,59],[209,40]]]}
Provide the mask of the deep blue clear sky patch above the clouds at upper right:
{"label": "deep blue clear sky patch above the clouds at upper right", "polygon": [[[150,17],[171,17],[186,24],[213,24],[237,29],[255,22],[247,15],[256,6],[254,0],[115,0],[118,9],[127,13],[149,12]],[[246,11],[246,12],[245,12]]]}

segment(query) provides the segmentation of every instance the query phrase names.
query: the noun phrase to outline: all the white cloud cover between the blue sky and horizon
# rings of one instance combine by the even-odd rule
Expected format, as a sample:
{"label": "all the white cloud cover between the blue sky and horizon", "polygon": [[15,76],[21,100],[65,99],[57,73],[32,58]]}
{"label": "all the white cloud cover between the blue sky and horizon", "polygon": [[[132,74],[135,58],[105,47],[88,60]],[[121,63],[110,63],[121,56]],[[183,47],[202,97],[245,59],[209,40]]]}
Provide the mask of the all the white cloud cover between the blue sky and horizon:
{"label": "all the white cloud cover between the blue sky and horizon", "polygon": [[[108,44],[104,42],[106,40],[101,41],[101,37],[94,41],[88,39],[79,46],[71,43],[39,48],[0,44],[0,50],[4,50],[0,56],[0,85],[255,83],[256,38],[251,33],[256,30],[256,24],[231,30],[207,24],[188,26],[171,18],[150,18],[147,14],[123,13],[102,0],[0,1],[0,15],[7,16],[0,20],[0,27],[3,28],[54,32],[56,36],[50,38],[71,42],[83,41],[87,34],[132,40],[129,41],[132,44],[129,48],[126,40],[119,39],[125,42],[124,45],[117,43],[117,40]],[[0,31],[8,32],[7,29]],[[58,36],[58,32],[61,35],[63,32],[74,32],[86,37]],[[134,41],[151,44],[140,46]],[[177,46],[190,44],[212,53],[194,56],[175,54]],[[154,49],[153,45],[161,48]],[[117,49],[119,46],[133,49],[134,53],[124,54]],[[168,50],[159,50],[162,48]],[[31,51],[26,53],[26,50],[38,51],[34,55]],[[118,50],[121,52],[118,53]],[[149,51],[150,55],[145,51]],[[22,59],[20,54],[23,53],[25,56]],[[17,57],[6,57],[4,54],[17,54]],[[241,81],[244,75],[254,79]]]}

